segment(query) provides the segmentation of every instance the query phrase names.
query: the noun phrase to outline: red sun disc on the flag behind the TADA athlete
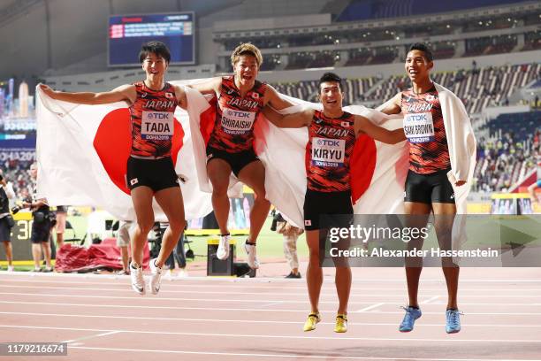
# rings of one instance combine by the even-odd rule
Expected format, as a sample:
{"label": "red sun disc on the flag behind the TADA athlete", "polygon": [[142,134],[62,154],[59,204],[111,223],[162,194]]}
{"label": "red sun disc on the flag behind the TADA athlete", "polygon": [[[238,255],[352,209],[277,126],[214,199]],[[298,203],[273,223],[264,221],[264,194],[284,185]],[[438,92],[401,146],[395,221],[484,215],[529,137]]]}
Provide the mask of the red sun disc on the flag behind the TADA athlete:
{"label": "red sun disc on the flag behind the TADA athlete", "polygon": [[[174,121],[171,157],[173,165],[182,148],[184,129]],[[130,190],[126,184],[127,158],[132,147],[130,111],[127,108],[110,111],[98,127],[94,137],[94,149],[102,161],[103,168],[115,185],[127,195]]]}

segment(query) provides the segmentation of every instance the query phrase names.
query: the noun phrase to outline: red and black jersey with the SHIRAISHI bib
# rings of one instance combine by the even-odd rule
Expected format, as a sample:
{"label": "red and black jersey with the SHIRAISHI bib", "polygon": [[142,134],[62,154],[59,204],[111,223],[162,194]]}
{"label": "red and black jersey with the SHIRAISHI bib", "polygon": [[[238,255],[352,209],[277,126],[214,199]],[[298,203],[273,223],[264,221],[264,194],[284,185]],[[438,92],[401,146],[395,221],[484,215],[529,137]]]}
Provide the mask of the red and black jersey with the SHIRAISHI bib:
{"label": "red and black jersey with the SHIRAISHI bib", "polygon": [[246,96],[240,96],[232,76],[222,78],[217,99],[216,120],[210,134],[209,145],[229,153],[251,150],[254,142],[254,124],[263,110],[263,97],[267,85],[255,81]]}

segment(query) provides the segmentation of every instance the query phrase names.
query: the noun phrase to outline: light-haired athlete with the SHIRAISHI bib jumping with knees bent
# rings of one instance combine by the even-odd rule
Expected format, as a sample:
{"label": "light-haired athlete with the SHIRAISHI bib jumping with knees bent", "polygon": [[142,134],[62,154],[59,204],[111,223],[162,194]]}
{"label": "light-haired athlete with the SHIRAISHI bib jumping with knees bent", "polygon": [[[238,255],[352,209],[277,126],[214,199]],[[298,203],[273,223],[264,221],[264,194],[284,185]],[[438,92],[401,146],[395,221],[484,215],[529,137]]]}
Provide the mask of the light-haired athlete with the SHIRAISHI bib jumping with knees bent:
{"label": "light-haired athlete with the SHIRAISHI bib jumping with knees bent", "polygon": [[227,229],[229,198],[227,188],[231,173],[254,189],[255,201],[250,211],[250,234],[245,244],[248,265],[258,268],[255,242],[270,210],[265,199],[265,170],[255,156],[254,124],[265,104],[276,109],[291,106],[270,85],[257,81],[263,63],[261,51],[250,43],[240,44],[232,52],[234,75],[214,78],[191,87],[203,94],[217,96],[217,117],[207,144],[207,173],[212,184],[212,207],[220,227],[217,257],[229,257],[230,234]]}

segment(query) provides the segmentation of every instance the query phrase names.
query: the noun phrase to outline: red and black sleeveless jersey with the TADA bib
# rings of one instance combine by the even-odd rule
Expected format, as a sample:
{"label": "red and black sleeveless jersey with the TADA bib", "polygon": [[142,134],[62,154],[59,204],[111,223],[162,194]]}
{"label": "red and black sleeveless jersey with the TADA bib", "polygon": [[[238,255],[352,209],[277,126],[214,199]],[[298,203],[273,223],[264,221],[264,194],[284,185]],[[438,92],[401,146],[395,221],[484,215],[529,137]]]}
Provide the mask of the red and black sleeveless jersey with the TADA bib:
{"label": "red and black sleeveless jersey with the TADA bib", "polygon": [[175,89],[165,83],[161,90],[147,87],[144,81],[133,84],[137,91],[130,106],[132,150],[136,157],[170,157],[174,112],[178,105]]}

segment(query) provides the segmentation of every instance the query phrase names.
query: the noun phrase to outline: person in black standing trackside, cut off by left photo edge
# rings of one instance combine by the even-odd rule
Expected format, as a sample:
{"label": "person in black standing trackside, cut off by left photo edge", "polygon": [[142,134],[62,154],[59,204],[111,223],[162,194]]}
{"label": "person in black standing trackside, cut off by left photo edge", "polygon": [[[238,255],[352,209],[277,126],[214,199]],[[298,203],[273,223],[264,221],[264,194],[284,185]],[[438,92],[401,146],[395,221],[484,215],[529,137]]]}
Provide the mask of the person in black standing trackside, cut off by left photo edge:
{"label": "person in black standing trackside, cut off by left photo edge", "polygon": [[13,248],[11,247],[11,228],[15,221],[10,213],[10,201],[15,199],[15,192],[11,182],[4,177],[0,170],[0,242],[4,243],[5,258],[8,263],[8,272],[13,271]]}

